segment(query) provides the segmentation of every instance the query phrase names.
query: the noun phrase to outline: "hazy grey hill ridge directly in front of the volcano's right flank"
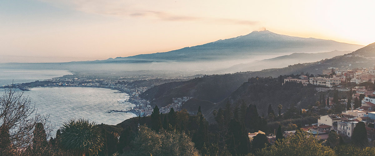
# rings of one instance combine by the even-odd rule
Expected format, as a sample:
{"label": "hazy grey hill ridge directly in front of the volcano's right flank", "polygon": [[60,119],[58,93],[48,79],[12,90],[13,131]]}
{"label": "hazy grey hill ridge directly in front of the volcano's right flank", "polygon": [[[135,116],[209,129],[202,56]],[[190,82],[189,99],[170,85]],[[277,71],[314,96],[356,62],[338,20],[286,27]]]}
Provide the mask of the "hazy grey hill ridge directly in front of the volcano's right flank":
{"label": "hazy grey hill ridge directly in front of the volcano's right flank", "polygon": [[292,53],[290,55],[279,56],[271,59],[263,59],[260,61],[253,61],[246,64],[237,64],[227,68],[225,71],[258,71],[269,68],[288,67],[291,64],[307,63],[320,61],[322,59],[333,58],[335,56],[344,55],[351,51],[332,51],[321,53]]}

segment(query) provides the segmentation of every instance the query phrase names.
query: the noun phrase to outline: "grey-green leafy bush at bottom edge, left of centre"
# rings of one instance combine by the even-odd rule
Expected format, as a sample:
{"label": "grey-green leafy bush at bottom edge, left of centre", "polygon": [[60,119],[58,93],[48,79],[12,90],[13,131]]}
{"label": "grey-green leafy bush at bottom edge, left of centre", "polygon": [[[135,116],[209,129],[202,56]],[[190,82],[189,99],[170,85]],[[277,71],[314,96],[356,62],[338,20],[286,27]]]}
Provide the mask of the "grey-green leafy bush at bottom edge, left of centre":
{"label": "grey-green leafy bush at bottom edge, left of centre", "polygon": [[178,131],[152,131],[147,126],[139,126],[138,137],[133,148],[122,156],[200,156],[194,143]]}

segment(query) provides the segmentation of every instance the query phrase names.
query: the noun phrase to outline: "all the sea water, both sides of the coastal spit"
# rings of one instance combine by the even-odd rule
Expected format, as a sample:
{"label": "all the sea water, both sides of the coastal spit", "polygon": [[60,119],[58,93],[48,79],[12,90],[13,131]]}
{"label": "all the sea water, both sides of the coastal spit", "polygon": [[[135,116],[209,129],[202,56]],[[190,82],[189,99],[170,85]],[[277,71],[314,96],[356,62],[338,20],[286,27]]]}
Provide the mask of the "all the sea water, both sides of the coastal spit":
{"label": "all the sea water, both sides of the coastal spit", "polygon": [[[0,86],[13,83],[33,82],[52,77],[71,74],[62,70],[2,70],[0,69]],[[10,82],[10,83],[9,83]],[[135,117],[133,113],[110,112],[127,110],[135,106],[127,102],[129,95],[107,88],[87,87],[36,87],[30,91],[17,90],[19,94],[35,104],[37,113],[49,116],[54,132],[64,122],[72,119],[89,119],[97,124],[117,125],[126,119]],[[0,89],[3,95],[4,89]]]}

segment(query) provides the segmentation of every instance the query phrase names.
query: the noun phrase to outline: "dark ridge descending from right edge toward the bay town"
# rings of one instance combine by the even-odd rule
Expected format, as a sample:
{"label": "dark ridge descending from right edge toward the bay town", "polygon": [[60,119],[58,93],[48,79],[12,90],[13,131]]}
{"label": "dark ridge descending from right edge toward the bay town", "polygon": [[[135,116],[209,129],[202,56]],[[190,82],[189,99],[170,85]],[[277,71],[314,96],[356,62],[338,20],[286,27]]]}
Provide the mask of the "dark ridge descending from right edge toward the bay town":
{"label": "dark ridge descending from right edge toward the bay town", "polygon": [[[194,113],[196,108],[193,106],[201,105],[202,113],[204,113],[205,116],[210,117],[212,115],[211,111],[214,108],[222,107],[223,103],[228,100],[227,98],[229,95],[231,96],[229,98],[232,101],[238,101],[239,99],[234,100],[234,97],[241,97],[243,95],[250,94],[252,91],[246,90],[246,87],[243,87],[244,89],[239,89],[241,85],[251,85],[248,82],[250,77],[278,77],[279,75],[299,74],[300,72],[321,74],[322,70],[328,67],[348,69],[374,66],[375,43],[372,43],[371,45],[358,49],[352,53],[336,56],[331,59],[324,59],[319,62],[295,64],[289,65],[285,68],[272,68],[254,72],[239,72],[234,74],[205,76],[186,82],[179,82],[181,85],[171,85],[171,83],[165,83],[160,86],[154,86],[153,88],[145,91],[141,97],[148,100],[154,99],[152,104],[157,104],[160,107],[171,103],[171,99],[174,97],[194,97],[196,99],[193,101],[187,101],[183,107],[189,112]],[[153,96],[148,96],[151,91],[156,91],[158,90],[157,88],[161,86],[163,87],[162,90],[160,89],[161,92],[158,92],[157,94],[153,93]],[[246,91],[247,93],[243,91]],[[248,102],[251,103],[251,101]],[[260,112],[265,111],[263,108],[266,109],[267,107],[258,107],[258,109],[261,109],[259,110]]]}

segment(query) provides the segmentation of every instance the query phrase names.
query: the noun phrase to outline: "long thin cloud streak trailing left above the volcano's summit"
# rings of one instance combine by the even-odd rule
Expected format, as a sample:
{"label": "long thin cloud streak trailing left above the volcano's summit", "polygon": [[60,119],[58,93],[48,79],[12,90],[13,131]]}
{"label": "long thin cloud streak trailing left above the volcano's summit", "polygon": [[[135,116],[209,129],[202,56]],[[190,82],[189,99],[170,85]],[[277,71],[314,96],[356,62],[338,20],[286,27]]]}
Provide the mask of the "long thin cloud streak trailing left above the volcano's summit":
{"label": "long thin cloud streak trailing left above the volcano's summit", "polygon": [[[41,0],[46,3],[73,7],[75,10],[107,16],[149,18],[161,21],[198,21],[219,24],[237,24],[237,25],[256,25],[258,21],[234,19],[234,18],[217,18],[204,16],[183,15],[184,13],[173,13],[172,11],[159,11],[138,9],[142,2],[132,3],[130,1],[101,1],[101,0]],[[143,2],[145,3],[145,2]]]}

